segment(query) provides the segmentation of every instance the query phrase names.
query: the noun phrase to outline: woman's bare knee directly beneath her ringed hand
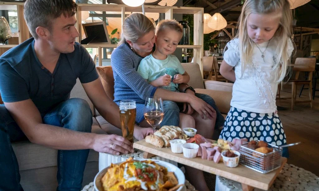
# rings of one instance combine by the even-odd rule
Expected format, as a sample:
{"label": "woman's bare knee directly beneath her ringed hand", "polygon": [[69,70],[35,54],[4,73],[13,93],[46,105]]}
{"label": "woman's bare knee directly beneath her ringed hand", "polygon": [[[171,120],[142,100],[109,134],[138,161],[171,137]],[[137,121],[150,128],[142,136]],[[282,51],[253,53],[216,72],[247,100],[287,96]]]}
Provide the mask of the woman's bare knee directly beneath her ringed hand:
{"label": "woman's bare knee directly beneath her ringed hand", "polygon": [[204,136],[204,138],[212,139],[216,123],[216,113],[213,113],[212,119],[202,119],[197,112],[194,112],[192,116],[195,119],[197,134]]}

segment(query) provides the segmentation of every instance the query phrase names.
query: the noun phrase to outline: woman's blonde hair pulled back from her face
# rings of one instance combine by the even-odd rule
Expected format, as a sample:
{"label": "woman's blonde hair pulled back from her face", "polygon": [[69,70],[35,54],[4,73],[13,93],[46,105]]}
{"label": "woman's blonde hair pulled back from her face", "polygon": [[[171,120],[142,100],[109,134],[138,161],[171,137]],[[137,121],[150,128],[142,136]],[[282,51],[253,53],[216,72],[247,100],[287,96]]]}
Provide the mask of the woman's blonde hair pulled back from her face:
{"label": "woman's blonde hair pulled back from her face", "polygon": [[155,32],[152,21],[141,13],[132,13],[125,18],[123,22],[121,40],[117,45],[120,46],[125,43],[126,40],[130,40],[134,43],[150,31]]}

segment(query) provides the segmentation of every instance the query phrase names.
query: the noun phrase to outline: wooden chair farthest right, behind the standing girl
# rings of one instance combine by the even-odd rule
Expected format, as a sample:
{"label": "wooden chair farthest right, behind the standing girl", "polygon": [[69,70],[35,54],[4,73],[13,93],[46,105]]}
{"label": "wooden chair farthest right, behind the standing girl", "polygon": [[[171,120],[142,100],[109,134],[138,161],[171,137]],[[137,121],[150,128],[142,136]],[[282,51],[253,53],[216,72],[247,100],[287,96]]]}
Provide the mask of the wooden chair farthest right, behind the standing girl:
{"label": "wooden chair farthest right, behind the standing girl", "polygon": [[[296,71],[295,78],[286,83],[291,84],[291,110],[293,110],[295,103],[310,103],[310,108],[312,108],[312,74],[315,71],[315,65],[315,58],[296,58],[295,65],[293,66],[293,71]],[[299,80],[300,72],[309,72],[308,79]],[[309,101],[296,101],[297,85],[308,85]]]}

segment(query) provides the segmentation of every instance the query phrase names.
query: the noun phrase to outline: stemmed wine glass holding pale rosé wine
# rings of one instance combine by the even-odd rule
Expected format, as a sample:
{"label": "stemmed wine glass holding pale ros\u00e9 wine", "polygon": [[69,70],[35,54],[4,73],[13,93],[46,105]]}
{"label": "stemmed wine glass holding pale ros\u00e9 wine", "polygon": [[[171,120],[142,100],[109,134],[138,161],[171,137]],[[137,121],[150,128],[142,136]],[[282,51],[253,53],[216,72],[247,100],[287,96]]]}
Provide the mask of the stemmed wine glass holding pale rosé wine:
{"label": "stemmed wine glass holding pale ros\u00e9 wine", "polygon": [[148,97],[145,100],[144,117],[148,124],[155,128],[159,125],[164,118],[163,101],[160,97]]}

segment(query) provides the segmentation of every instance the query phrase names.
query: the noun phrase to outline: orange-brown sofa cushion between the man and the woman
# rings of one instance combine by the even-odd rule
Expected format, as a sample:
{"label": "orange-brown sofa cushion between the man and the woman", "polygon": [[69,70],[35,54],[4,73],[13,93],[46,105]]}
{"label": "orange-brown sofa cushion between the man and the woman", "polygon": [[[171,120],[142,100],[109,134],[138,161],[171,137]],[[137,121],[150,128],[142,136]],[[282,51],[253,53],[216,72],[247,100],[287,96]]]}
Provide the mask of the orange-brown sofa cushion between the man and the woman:
{"label": "orange-brown sofa cushion between the man and the woman", "polygon": [[111,66],[96,67],[106,94],[114,100],[114,78]]}

